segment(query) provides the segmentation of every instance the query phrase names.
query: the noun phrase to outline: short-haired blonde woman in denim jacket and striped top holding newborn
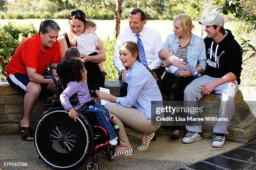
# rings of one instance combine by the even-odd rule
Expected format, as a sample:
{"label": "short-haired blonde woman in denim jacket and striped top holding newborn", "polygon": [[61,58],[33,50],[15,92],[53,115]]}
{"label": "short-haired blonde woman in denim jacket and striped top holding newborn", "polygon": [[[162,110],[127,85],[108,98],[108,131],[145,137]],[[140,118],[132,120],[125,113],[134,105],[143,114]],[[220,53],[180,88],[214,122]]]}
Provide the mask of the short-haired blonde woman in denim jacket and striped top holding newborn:
{"label": "short-haired blonde woman in denim jacket and striped top holding newborn", "polygon": [[[174,55],[180,59],[182,58],[183,61],[170,58],[162,61],[162,63],[166,67],[174,65],[185,70],[178,72],[179,77],[175,77],[171,72],[166,72],[163,78],[163,90],[169,96],[169,100],[183,101],[183,91],[186,86],[200,76],[197,73],[204,71],[206,68],[205,42],[201,37],[192,34],[191,31],[194,25],[192,25],[189,15],[178,15],[174,18],[173,25],[174,34],[168,35],[164,47],[172,50]],[[190,72],[186,65],[194,67],[196,71]],[[179,126],[174,126],[174,131],[170,138],[178,139],[179,130]]]}

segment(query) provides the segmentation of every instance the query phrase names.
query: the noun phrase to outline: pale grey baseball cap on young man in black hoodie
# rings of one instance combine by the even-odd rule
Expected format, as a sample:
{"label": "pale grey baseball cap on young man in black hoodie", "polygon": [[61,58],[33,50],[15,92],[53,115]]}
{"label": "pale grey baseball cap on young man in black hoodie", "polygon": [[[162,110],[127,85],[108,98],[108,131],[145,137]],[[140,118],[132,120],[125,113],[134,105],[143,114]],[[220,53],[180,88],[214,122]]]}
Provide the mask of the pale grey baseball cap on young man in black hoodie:
{"label": "pale grey baseball cap on young man in black hoodie", "polygon": [[205,26],[220,25],[224,27],[224,18],[220,14],[210,14],[204,21],[199,21],[200,24]]}

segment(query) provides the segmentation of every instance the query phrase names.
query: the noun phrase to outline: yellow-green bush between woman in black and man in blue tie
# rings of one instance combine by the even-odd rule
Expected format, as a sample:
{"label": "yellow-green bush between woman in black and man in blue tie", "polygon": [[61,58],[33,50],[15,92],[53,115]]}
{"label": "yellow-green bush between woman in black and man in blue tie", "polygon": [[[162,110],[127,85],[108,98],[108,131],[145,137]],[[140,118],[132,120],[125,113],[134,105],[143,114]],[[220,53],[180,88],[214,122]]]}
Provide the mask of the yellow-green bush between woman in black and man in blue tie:
{"label": "yellow-green bush between woman in black and man in blue tie", "polygon": [[115,42],[116,42],[115,38],[113,40],[109,40],[109,37],[102,42],[107,55],[106,61],[103,62],[103,67],[105,71],[108,73],[108,75],[106,75],[105,77],[106,81],[118,80],[118,71],[115,69],[113,60],[112,60],[114,55]]}

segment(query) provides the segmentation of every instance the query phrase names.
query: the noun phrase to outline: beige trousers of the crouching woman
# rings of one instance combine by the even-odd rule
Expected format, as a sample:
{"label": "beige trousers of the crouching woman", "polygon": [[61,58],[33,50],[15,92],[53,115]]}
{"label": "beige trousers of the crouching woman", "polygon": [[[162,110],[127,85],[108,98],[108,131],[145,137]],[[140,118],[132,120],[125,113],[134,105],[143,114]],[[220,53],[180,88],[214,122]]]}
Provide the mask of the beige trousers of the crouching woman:
{"label": "beige trousers of the crouching woman", "polygon": [[121,146],[130,144],[126,134],[141,138],[143,133],[155,132],[160,128],[160,126],[151,126],[151,120],[141,110],[110,102],[105,107],[108,108],[110,118],[114,116],[113,120],[119,125]]}

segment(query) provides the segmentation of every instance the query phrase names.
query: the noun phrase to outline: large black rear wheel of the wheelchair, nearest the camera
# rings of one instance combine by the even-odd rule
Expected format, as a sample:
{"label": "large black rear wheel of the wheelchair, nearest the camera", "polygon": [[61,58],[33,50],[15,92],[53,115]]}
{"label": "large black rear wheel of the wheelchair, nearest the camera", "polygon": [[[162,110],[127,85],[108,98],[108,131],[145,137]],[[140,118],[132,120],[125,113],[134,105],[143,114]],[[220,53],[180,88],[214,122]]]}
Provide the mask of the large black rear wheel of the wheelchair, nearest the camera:
{"label": "large black rear wheel of the wheelchair, nearest the camera", "polygon": [[34,132],[38,155],[54,169],[79,168],[92,155],[94,134],[82,114],[74,122],[63,107],[54,107],[44,112]]}

